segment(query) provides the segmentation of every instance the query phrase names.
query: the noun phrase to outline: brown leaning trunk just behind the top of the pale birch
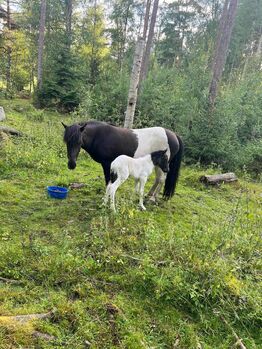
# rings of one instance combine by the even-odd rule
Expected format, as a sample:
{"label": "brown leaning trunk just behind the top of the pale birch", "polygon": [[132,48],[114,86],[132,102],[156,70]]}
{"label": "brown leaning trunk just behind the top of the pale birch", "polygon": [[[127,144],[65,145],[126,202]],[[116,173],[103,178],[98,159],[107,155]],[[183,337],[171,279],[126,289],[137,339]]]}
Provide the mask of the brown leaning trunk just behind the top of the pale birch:
{"label": "brown leaning trunk just behind the top of the pale birch", "polygon": [[158,4],[159,4],[159,0],[155,0],[154,4],[153,4],[153,10],[152,10],[152,15],[151,15],[151,20],[150,20],[146,48],[145,48],[145,52],[143,55],[139,84],[141,84],[142,81],[145,80],[145,78],[147,77],[147,73],[148,73],[150,51],[152,48],[154,34],[155,34],[155,24],[156,24],[156,16],[157,16],[157,11],[158,11]]}

